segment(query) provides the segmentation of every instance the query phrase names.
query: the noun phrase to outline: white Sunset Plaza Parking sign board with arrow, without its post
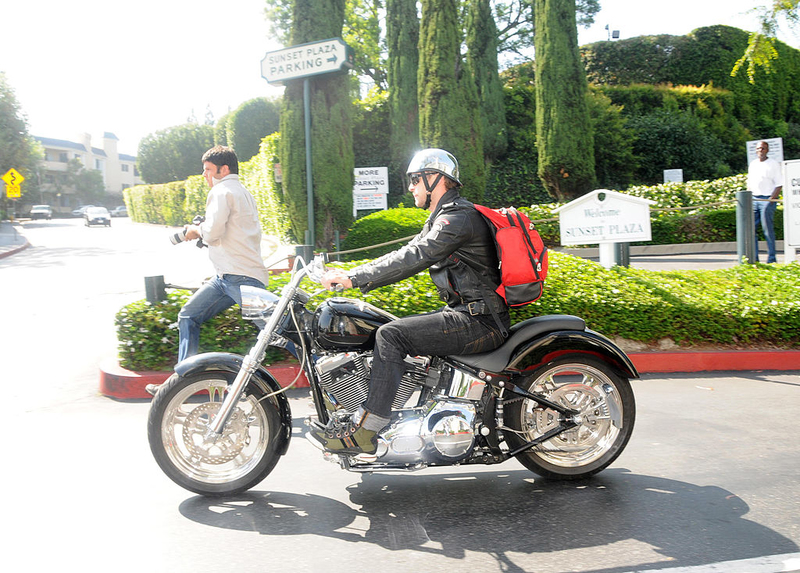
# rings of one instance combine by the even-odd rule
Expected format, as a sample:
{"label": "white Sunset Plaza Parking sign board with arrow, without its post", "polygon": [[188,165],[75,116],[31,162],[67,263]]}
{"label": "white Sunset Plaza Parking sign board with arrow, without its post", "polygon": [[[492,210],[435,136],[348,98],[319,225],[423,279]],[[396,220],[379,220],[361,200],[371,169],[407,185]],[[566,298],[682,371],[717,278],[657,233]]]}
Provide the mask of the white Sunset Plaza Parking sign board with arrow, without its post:
{"label": "white Sunset Plaza Parking sign board with arrow, without its post", "polygon": [[353,68],[353,49],[341,38],[298,44],[267,52],[261,60],[261,76],[271,84]]}

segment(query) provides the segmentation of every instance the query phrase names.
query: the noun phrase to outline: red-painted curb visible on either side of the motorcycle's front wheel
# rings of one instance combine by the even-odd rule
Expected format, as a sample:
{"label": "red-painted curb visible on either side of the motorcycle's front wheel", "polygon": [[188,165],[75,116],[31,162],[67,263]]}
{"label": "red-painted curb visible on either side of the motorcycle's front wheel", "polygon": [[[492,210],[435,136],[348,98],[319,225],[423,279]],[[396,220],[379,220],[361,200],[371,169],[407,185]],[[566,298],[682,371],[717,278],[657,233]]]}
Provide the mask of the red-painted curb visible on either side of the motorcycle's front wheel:
{"label": "red-painted curb visible on either side of the motorcycle's front wheel", "polygon": [[[273,364],[267,368],[285,388],[300,372],[299,364]],[[133,372],[120,366],[116,360],[104,360],[100,364],[100,393],[109,398],[120,400],[139,400],[152,398],[144,389],[148,384],[161,384],[172,375],[172,372]],[[308,388],[306,375],[300,373],[295,388]]]}

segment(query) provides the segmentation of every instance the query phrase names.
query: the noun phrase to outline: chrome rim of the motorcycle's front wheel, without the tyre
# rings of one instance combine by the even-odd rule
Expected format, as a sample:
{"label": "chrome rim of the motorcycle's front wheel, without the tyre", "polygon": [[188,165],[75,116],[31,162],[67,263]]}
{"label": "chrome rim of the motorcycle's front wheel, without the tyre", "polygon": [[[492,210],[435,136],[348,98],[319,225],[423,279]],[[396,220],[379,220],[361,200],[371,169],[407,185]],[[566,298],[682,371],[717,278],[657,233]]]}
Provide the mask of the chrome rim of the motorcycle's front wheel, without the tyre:
{"label": "chrome rim of the motorcycle's front wheel, without the tyre", "polygon": [[209,424],[222,405],[228,382],[199,380],[181,388],[169,401],[161,424],[164,451],[187,477],[220,484],[244,477],[264,458],[270,443],[269,421],[252,395],[244,395],[216,440]]}

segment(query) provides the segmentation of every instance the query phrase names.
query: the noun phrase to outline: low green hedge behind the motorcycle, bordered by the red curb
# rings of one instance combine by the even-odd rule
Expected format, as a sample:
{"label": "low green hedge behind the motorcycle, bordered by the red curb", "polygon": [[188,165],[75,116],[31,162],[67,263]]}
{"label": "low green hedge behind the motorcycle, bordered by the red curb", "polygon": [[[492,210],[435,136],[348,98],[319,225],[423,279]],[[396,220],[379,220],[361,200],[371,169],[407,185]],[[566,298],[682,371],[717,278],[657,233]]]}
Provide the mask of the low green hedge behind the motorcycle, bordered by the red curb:
{"label": "low green hedge behind the motorcycle, bordered by the red curb", "polygon": [[[351,268],[358,262],[341,263]],[[280,293],[288,273],[273,277]],[[306,285],[309,292],[318,285]],[[427,272],[359,297],[398,316],[442,306]],[[163,303],[138,301],[117,314],[120,364],[133,370],[170,368],[178,347],[177,315],[187,293]],[[319,302],[334,293],[313,299]],[[613,267],[553,252],[545,294],[514,309],[514,322],[545,314],[574,314],[607,336],[646,343],[671,338],[682,345],[759,344],[800,347],[800,264],[741,265],[713,271],[646,271]],[[203,325],[201,352],[242,354],[255,329],[234,307]],[[279,357],[271,356],[269,361]]]}

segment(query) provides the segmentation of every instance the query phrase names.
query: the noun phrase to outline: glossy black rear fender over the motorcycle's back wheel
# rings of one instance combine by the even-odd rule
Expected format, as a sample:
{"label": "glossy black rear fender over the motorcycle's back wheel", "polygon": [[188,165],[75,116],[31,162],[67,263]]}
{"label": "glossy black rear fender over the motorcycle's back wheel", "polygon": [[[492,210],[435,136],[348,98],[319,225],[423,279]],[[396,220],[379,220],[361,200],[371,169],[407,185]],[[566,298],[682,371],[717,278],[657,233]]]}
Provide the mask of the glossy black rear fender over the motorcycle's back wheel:
{"label": "glossy black rear fender over the motorcycle's back wheel", "polygon": [[508,370],[533,370],[568,354],[593,356],[626,378],[639,377],[631,359],[608,338],[592,330],[559,330],[537,337],[517,348]]}

